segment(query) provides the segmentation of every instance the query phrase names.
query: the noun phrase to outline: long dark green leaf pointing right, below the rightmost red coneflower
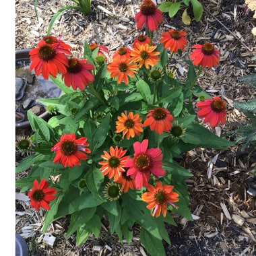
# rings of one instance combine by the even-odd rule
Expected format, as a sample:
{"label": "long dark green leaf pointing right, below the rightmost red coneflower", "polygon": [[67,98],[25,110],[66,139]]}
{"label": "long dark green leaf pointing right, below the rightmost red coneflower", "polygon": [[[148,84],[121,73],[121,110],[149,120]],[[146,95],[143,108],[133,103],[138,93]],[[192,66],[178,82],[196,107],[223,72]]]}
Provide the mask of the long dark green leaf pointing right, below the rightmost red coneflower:
{"label": "long dark green leaf pointing right, below the rightmost red coneflower", "polygon": [[216,148],[225,150],[234,143],[218,137],[199,123],[193,122],[187,126],[184,137],[181,138],[185,143],[192,143],[204,148]]}

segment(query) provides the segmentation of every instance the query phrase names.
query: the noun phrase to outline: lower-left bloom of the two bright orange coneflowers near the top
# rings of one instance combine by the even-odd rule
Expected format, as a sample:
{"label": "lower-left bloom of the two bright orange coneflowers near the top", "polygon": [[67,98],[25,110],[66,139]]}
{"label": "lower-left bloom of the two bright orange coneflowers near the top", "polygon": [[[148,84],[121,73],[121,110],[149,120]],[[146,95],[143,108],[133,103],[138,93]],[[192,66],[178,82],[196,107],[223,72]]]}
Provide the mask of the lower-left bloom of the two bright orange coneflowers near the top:
{"label": "lower-left bloom of the two bright orange coneflowers near the top", "polygon": [[125,82],[129,84],[128,75],[130,77],[135,77],[135,70],[139,69],[136,63],[132,63],[132,59],[121,59],[117,57],[112,63],[108,64],[108,72],[110,72],[111,77],[118,77],[117,83]]}

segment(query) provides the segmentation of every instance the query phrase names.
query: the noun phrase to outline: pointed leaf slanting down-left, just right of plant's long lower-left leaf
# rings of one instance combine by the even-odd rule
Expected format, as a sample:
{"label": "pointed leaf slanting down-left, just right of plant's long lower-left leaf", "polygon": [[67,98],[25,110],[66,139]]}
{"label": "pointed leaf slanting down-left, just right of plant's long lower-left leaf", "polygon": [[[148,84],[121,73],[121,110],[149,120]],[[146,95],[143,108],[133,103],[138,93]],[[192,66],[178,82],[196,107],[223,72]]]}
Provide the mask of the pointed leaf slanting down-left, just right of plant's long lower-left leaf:
{"label": "pointed leaf slanting down-left, just right of plant's long lower-left leaf", "polygon": [[69,238],[79,226],[82,226],[86,222],[88,222],[92,216],[94,216],[97,207],[90,207],[84,210],[74,212],[71,216],[71,221],[69,225],[69,229],[67,230],[67,234],[65,234],[66,238]]}

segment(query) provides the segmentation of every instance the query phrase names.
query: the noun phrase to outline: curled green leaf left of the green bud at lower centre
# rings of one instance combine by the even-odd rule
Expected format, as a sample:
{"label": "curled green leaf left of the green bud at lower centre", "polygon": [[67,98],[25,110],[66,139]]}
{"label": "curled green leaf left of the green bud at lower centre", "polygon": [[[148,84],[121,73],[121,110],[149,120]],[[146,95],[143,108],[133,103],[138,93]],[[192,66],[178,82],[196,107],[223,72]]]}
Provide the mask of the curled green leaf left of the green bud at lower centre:
{"label": "curled green leaf left of the green bud at lower centre", "polygon": [[88,189],[92,192],[94,197],[96,197],[100,201],[104,201],[102,197],[100,197],[98,193],[98,189],[100,188],[100,184],[104,181],[104,176],[102,172],[98,168],[94,168],[86,172],[86,185]]}

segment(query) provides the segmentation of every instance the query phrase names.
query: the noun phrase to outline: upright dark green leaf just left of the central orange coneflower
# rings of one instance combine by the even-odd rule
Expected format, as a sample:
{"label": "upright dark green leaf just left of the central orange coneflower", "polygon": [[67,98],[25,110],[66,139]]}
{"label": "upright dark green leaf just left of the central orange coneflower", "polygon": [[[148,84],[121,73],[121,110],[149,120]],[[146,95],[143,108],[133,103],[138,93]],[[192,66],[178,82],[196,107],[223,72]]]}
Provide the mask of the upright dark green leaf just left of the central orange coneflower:
{"label": "upright dark green leaf just left of the central orange coneflower", "polygon": [[107,114],[102,123],[97,127],[97,129],[92,134],[92,148],[96,150],[100,148],[106,139],[106,135],[108,134],[109,129],[109,122],[110,122],[110,115]]}

